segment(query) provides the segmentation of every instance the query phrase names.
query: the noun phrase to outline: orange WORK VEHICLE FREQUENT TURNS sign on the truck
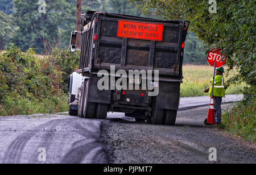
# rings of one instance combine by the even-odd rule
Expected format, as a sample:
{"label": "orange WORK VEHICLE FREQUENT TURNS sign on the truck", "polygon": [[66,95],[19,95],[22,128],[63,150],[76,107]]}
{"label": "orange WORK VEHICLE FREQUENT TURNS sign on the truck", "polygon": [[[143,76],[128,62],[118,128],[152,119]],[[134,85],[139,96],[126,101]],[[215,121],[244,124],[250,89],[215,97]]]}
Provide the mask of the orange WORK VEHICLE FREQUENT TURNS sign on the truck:
{"label": "orange WORK VEHICLE FREQUENT TURNS sign on the truck", "polygon": [[162,41],[163,27],[163,24],[119,20],[117,37]]}

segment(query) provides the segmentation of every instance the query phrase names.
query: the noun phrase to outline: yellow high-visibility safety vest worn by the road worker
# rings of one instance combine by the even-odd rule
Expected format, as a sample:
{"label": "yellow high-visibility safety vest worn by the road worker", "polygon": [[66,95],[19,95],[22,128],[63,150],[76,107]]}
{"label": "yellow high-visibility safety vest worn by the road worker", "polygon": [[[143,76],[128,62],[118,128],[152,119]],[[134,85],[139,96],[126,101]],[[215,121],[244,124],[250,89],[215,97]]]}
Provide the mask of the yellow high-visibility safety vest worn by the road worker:
{"label": "yellow high-visibility safety vest worn by the road worker", "polygon": [[[210,80],[212,84],[212,80]],[[224,87],[224,78],[223,76],[216,76],[214,78],[214,89],[213,89],[214,97],[225,97],[225,87]],[[212,85],[209,90],[209,97],[212,97]]]}

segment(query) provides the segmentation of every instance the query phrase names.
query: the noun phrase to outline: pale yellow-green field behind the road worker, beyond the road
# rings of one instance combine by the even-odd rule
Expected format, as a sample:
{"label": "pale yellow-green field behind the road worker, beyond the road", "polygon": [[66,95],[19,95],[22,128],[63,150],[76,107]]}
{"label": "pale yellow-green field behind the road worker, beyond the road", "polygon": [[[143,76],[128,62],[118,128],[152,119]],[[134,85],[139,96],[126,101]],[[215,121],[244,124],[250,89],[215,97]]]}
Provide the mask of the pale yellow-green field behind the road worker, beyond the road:
{"label": "pale yellow-green field behind the road worker, beyond the road", "polygon": [[[236,72],[232,70],[229,76],[224,74],[225,81],[234,76]],[[208,95],[204,90],[210,86],[210,79],[213,77],[213,67],[208,65],[184,65],[183,84],[181,84],[181,97],[197,97]],[[231,85],[226,89],[226,94],[241,94],[243,85]]]}

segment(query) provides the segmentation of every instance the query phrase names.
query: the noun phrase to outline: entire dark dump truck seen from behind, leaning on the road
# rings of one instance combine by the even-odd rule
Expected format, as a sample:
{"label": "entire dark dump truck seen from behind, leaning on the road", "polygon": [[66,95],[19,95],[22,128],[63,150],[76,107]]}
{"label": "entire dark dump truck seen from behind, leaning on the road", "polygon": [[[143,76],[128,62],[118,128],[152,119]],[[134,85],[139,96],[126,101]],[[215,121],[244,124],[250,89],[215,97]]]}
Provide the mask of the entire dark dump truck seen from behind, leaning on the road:
{"label": "entire dark dump truck seen from behind, leaning on the road", "polygon": [[[150,124],[175,124],[189,22],[87,11],[81,55],[69,85],[69,114],[105,119],[125,113]],[[72,31],[71,51],[76,51]]]}

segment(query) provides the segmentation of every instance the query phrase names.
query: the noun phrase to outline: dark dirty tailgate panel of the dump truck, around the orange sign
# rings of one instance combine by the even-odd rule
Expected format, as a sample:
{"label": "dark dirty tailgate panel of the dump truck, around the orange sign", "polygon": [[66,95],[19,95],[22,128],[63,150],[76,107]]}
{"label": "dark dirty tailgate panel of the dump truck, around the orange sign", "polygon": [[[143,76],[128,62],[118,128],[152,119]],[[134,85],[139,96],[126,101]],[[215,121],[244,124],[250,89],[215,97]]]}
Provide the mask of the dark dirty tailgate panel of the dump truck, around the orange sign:
{"label": "dark dirty tailgate panel of the dump truck, around the orange sign", "polygon": [[95,68],[110,70],[115,65],[117,70],[159,70],[162,76],[181,77],[184,24],[152,22],[164,26],[163,39],[157,41],[118,37],[119,20],[98,18]]}

